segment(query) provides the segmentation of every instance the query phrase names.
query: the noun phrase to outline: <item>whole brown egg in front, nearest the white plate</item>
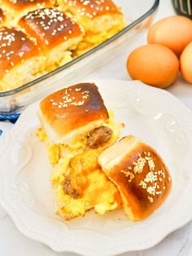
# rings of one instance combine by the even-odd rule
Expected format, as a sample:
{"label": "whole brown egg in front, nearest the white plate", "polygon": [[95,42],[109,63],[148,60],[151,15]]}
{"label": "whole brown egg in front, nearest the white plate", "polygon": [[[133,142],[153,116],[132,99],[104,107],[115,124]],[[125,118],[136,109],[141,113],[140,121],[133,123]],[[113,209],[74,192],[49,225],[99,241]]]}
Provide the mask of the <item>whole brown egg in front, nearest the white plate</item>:
{"label": "whole brown egg in front, nearest the white plate", "polygon": [[165,88],[176,80],[179,61],[168,47],[148,44],[138,47],[129,55],[127,69],[134,80]]}

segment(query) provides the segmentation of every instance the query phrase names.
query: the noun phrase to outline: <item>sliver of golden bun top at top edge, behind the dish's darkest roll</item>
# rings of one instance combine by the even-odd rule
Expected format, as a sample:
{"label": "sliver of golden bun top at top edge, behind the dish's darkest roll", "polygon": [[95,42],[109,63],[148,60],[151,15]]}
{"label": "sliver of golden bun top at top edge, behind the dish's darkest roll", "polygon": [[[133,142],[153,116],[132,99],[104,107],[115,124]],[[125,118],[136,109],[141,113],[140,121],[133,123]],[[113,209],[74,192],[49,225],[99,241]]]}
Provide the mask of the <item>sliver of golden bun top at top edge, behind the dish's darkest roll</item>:
{"label": "sliver of golden bun top at top edge, behind the dish's darkest roll", "polygon": [[49,4],[50,0],[3,0],[2,2],[10,8],[22,11],[28,7],[39,7],[40,5]]}

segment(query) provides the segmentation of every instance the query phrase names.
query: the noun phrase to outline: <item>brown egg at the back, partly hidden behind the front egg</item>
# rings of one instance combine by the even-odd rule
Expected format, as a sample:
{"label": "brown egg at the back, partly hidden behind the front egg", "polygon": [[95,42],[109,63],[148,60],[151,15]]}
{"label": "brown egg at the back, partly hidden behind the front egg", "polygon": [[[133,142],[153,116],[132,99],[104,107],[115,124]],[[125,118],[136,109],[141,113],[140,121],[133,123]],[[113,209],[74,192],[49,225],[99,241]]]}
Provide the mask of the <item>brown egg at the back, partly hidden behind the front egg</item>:
{"label": "brown egg at the back, partly hidden behind the front egg", "polygon": [[149,43],[167,46],[181,55],[185,46],[192,41],[192,20],[184,16],[175,15],[155,23],[148,33]]}

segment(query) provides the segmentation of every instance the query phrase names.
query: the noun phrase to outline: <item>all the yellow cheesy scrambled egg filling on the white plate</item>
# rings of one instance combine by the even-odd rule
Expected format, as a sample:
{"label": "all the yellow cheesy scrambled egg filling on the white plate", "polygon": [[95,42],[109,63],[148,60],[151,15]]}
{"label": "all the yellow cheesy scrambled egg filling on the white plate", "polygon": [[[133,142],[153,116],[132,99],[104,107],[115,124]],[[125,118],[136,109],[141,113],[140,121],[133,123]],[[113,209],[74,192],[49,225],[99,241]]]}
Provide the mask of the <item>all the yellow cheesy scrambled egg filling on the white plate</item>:
{"label": "all the yellow cheesy scrambled egg filling on the white plate", "polygon": [[[113,131],[111,139],[97,149],[85,150],[87,138],[70,147],[50,144],[45,130],[37,130],[38,138],[46,143],[50,163],[55,166],[50,181],[58,208],[57,214],[66,220],[83,216],[91,209],[98,214],[105,214],[121,205],[118,189],[98,166],[98,155],[116,142],[122,128],[122,124],[115,123],[112,112],[109,112],[109,117],[105,125]],[[70,192],[75,192],[75,196]]]}

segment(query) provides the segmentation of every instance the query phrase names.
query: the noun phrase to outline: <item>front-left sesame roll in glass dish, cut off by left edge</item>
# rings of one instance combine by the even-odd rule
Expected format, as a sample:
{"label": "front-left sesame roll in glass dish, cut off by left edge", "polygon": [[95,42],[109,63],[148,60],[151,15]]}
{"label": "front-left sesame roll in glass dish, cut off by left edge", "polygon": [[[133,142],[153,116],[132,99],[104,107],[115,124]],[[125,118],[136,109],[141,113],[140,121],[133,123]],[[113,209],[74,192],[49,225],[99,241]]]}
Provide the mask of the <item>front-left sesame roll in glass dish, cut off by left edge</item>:
{"label": "front-left sesame roll in glass dish, cut off by left edge", "polygon": [[12,90],[35,79],[42,68],[34,38],[20,29],[0,28],[0,90]]}

